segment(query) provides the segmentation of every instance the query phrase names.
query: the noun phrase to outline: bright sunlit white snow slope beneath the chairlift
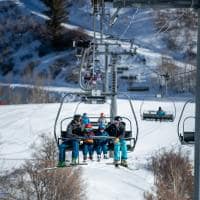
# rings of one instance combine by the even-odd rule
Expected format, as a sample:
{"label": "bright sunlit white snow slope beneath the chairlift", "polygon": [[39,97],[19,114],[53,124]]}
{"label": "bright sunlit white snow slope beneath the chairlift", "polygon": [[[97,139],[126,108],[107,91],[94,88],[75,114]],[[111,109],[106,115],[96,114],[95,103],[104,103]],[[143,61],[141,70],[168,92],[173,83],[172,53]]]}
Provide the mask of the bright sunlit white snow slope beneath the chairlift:
{"label": "bright sunlit white snow slope beneath the chairlift", "polygon": [[[174,122],[141,120],[141,103],[144,105],[143,110],[154,110],[161,105],[168,112],[174,112],[172,102],[133,101],[139,122],[139,138],[135,151],[128,154],[131,169],[122,167],[115,169],[114,166],[107,165],[106,163],[111,163],[112,159],[103,160],[100,163],[96,160],[88,161],[88,165],[83,166],[83,177],[87,183],[86,194],[89,200],[143,200],[143,193],[151,190],[153,186],[153,175],[147,170],[150,157],[161,148],[170,149],[181,146],[177,136],[177,122],[184,102],[175,102],[177,117]],[[58,104],[0,106],[0,134],[1,141],[3,141],[0,152],[2,171],[19,167],[24,160],[29,159],[30,145],[38,142],[41,133],[53,136],[53,125],[58,106]],[[76,103],[64,105],[60,119],[73,115],[75,107]],[[93,116],[102,111],[108,116],[107,105],[83,104],[77,112],[87,112]],[[118,100],[118,113],[129,117],[133,121],[133,130],[135,130],[133,116],[126,100]],[[188,115],[194,115],[194,104],[190,104],[186,109],[184,117]],[[187,128],[193,130],[194,122],[187,124]],[[189,152],[193,160],[193,147],[184,146],[183,149]]]}

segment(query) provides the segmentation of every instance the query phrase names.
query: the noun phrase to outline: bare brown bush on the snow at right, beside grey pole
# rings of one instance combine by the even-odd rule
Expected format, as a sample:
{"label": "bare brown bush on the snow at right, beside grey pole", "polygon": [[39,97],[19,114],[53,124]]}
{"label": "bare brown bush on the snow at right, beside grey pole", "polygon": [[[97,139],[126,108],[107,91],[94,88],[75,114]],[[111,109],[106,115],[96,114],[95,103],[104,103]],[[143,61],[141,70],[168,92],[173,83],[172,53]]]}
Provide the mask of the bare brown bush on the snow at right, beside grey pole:
{"label": "bare brown bush on the snow at right, beside grey pole", "polygon": [[156,196],[145,194],[147,200],[191,200],[193,194],[192,166],[181,150],[162,151],[152,157],[150,165],[156,186]]}

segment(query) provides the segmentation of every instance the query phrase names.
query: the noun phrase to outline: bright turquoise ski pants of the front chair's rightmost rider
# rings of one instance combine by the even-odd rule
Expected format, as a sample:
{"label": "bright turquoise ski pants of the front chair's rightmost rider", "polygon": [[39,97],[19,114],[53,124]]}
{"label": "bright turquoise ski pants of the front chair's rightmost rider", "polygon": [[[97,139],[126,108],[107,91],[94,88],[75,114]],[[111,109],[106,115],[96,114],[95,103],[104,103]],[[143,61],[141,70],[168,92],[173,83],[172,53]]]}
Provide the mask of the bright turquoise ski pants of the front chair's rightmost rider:
{"label": "bright turquoise ski pants of the front chair's rightmost rider", "polygon": [[121,160],[127,160],[127,146],[126,140],[120,139],[114,144],[114,160],[120,160],[120,150],[121,150]]}

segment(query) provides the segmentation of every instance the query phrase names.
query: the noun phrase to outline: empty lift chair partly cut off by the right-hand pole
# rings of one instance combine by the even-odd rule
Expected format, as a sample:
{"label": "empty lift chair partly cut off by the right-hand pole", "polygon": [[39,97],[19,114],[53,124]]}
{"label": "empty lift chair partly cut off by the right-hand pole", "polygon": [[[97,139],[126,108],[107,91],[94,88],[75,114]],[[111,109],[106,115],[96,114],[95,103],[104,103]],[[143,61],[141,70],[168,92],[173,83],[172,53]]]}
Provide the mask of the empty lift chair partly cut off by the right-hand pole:
{"label": "empty lift chair partly cut off by the right-hand pole", "polygon": [[[185,124],[186,124],[186,122],[188,120],[195,119],[195,117],[194,116],[188,116],[188,117],[186,117],[186,118],[184,118],[182,120],[186,106],[189,103],[192,103],[192,102],[193,102],[193,100],[186,101],[186,103],[183,106],[183,109],[181,111],[181,115],[180,115],[180,118],[179,118],[179,121],[178,121],[177,132],[178,132],[178,138],[179,138],[179,140],[180,140],[182,145],[184,145],[184,144],[194,144],[195,131],[186,130]],[[183,121],[183,123],[182,123],[182,132],[180,131],[181,121]]]}

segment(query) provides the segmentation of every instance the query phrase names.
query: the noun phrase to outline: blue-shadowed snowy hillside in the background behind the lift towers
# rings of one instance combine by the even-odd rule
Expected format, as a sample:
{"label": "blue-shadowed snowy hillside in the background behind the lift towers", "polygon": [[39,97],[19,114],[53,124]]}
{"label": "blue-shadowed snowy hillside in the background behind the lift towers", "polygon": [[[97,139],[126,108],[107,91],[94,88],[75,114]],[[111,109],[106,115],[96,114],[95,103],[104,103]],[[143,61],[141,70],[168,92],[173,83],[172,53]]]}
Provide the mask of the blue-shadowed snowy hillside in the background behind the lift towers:
{"label": "blue-shadowed snowy hillside in the background behind the lift towers", "polygon": [[[40,82],[43,85],[77,84],[80,63],[77,62],[75,51],[72,49],[54,51],[41,38],[39,30],[44,29],[45,21],[48,18],[46,15],[48,8],[42,1],[1,1],[0,8],[2,9],[0,31],[4,38],[0,45],[2,51],[0,56],[1,82],[34,85],[39,82],[37,80],[42,80]],[[118,60],[118,67],[128,67],[127,70],[122,70],[122,73],[118,75],[121,91],[129,90],[132,85],[142,85],[144,87],[150,86],[151,93],[158,92],[160,82],[163,81],[161,75],[166,73],[161,66],[168,64],[173,68],[172,71],[169,70],[170,73],[181,73],[180,76],[171,75],[173,77],[170,79],[170,87],[176,85],[173,87],[175,92],[193,92],[193,73],[187,74],[186,78],[190,83],[186,87],[181,84],[185,82],[182,73],[194,70],[195,66],[185,64],[180,59],[184,53],[179,50],[169,51],[163,40],[167,37],[166,32],[170,29],[171,24],[174,24],[179,18],[182,19],[183,14],[181,17],[172,18],[171,24],[166,25],[165,21],[161,22],[161,28],[158,30],[158,27],[155,26],[157,14],[152,9],[121,9],[119,19],[112,27],[108,26],[108,21],[115,9],[111,5],[107,5],[105,12],[108,14],[106,15],[108,19],[106,17],[104,23],[105,36],[117,38],[118,43],[122,45],[122,51],[130,49],[130,42],[120,41],[122,39],[130,39],[134,47],[137,48],[135,56],[123,56]],[[92,35],[92,20],[91,2],[89,0],[76,0],[72,2],[69,22],[65,26],[69,28],[69,24],[75,25],[70,28],[81,27]],[[99,18],[97,18],[97,22],[99,22]],[[16,34],[13,34],[14,32]],[[195,30],[191,35],[193,38],[191,51],[195,52],[196,50],[193,49],[196,38]],[[178,40],[182,44],[181,37]],[[163,61],[164,58],[167,58],[167,61]],[[179,61],[174,60],[174,58],[179,59]]]}

